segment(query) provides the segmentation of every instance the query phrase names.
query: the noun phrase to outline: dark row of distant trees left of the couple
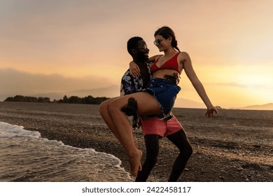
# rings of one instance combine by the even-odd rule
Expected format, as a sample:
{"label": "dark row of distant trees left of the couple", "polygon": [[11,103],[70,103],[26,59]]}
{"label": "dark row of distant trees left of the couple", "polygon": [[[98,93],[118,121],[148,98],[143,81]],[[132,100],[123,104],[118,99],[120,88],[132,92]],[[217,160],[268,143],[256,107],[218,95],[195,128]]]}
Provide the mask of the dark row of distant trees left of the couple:
{"label": "dark row of distant trees left of the couple", "polygon": [[22,95],[16,95],[15,97],[8,97],[4,102],[40,102],[40,103],[65,103],[65,104],[101,104],[105,100],[110,99],[108,97],[92,97],[91,95],[87,97],[77,97],[71,96],[67,97],[64,95],[63,99],[50,101],[48,97],[28,97]]}

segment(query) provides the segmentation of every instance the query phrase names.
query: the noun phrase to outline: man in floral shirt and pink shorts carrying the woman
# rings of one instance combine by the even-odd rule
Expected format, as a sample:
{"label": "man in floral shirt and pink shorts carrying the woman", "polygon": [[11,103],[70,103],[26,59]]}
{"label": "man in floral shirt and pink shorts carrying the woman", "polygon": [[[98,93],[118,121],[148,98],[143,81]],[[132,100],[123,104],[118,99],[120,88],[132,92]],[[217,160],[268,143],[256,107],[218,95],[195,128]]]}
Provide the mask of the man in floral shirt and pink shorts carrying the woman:
{"label": "man in floral shirt and pink shorts carrying the woman", "polygon": [[[127,42],[127,51],[132,56],[133,61],[138,64],[139,69],[141,70],[141,76],[131,76],[130,70],[128,69],[123,75],[121,81],[121,96],[144,89],[148,84],[148,81],[151,79],[150,66],[148,64],[149,50],[143,38],[137,36],[130,38],[130,40]],[[151,59],[154,60],[155,57],[152,57]],[[100,113],[103,117],[105,108],[106,106],[100,107]],[[133,127],[137,127],[137,115],[134,114],[134,111],[137,111],[137,103],[134,101],[134,99],[128,100],[128,104],[125,106],[125,108],[123,108],[123,111],[128,116],[134,116]],[[106,124],[109,125],[107,122]],[[177,148],[179,148],[179,156],[174,162],[174,166],[168,180],[177,181],[193,153],[193,148],[190,146],[183,127],[173,115],[170,115],[165,120],[160,120],[154,116],[142,116],[141,127],[144,132],[146,144],[146,160],[144,165],[142,165],[142,170],[137,174],[136,181],[146,181],[148,179],[151,170],[157,162],[159,139],[162,137],[167,137]],[[111,131],[119,139],[115,129],[113,128]]]}

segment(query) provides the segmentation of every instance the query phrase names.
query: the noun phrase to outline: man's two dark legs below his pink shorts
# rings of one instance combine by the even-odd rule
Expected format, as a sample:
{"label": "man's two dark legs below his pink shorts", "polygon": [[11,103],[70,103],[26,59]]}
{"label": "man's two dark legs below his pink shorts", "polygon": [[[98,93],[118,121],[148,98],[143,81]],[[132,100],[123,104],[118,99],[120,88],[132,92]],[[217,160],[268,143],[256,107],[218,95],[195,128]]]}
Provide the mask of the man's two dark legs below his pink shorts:
{"label": "man's two dark legs below his pink shorts", "polygon": [[[155,166],[155,163],[158,160],[159,137],[160,136],[157,134],[150,134],[144,137],[146,144],[146,160],[142,166],[142,170],[137,174],[136,182],[145,182]],[[179,148],[180,151],[178,157],[174,161],[172,172],[169,175],[168,180],[174,182],[179,179],[183,169],[186,167],[186,164],[193,153],[193,148],[190,145],[184,130],[171,134],[167,136],[167,138],[169,141],[172,141],[172,143]]]}

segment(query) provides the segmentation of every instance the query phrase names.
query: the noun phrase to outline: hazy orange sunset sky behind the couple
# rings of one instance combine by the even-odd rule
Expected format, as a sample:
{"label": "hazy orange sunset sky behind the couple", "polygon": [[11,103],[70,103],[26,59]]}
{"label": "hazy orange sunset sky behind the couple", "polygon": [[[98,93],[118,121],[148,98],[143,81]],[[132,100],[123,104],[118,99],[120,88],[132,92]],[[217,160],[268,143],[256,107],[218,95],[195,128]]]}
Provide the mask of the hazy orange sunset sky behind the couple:
{"label": "hazy orange sunset sky behind the couple", "polygon": [[[272,0],[0,0],[0,95],[116,85],[116,97],[131,61],[127,40],[141,36],[159,54],[153,34],[166,25],[214,105],[267,104],[272,8]],[[178,97],[202,102],[185,73],[179,85]]]}

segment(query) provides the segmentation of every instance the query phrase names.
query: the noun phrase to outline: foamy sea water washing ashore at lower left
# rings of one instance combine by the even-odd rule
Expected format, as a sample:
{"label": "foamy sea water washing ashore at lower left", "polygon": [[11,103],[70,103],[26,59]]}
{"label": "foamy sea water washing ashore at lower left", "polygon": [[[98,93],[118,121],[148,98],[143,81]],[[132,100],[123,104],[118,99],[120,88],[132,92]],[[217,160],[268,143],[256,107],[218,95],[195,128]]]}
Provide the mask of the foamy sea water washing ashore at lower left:
{"label": "foamy sea water washing ashore at lower left", "polygon": [[48,140],[0,122],[0,181],[133,181],[111,154]]}

